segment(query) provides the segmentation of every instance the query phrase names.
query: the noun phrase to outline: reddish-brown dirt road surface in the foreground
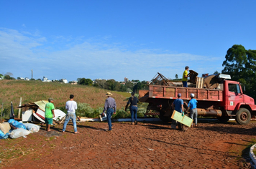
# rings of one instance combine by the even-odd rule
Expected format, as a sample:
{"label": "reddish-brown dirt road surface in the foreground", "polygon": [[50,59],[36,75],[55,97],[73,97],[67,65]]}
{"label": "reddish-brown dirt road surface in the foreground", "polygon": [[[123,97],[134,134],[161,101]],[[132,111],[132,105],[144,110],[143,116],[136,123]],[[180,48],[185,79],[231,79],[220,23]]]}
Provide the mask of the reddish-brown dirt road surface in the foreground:
{"label": "reddish-brown dirt road surface in the foreground", "polygon": [[248,145],[256,141],[256,123],[198,123],[185,132],[170,123],[78,123],[51,132],[0,141],[0,168],[253,168]]}

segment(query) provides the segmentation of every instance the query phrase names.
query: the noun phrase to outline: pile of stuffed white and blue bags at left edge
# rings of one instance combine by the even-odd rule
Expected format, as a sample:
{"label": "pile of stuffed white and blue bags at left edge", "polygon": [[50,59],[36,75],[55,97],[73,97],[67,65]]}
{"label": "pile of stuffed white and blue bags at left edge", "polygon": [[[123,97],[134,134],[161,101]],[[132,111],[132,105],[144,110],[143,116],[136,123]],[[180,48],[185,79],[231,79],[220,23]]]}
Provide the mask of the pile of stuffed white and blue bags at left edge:
{"label": "pile of stuffed white and blue bags at left edge", "polygon": [[26,135],[29,135],[32,132],[38,132],[39,130],[39,125],[22,123],[17,120],[10,119],[8,122],[0,123],[0,139],[6,139],[8,137],[26,137]]}

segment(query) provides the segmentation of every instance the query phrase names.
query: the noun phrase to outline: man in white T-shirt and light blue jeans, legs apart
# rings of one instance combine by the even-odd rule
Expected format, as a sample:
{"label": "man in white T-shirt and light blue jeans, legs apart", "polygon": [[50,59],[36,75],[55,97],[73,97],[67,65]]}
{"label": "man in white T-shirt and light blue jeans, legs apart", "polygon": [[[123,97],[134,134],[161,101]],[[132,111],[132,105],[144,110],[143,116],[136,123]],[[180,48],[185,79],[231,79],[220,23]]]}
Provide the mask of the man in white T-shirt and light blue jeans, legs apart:
{"label": "man in white T-shirt and light blue jeans, legs apart", "polygon": [[77,134],[77,133],[79,133],[76,128],[76,110],[78,108],[78,105],[74,101],[74,95],[70,95],[69,98],[70,98],[70,100],[68,100],[68,102],[65,103],[65,109],[68,110],[68,113],[65,116],[63,132],[65,132],[65,128],[67,127],[69,120],[72,119],[74,132],[75,132],[75,134]]}

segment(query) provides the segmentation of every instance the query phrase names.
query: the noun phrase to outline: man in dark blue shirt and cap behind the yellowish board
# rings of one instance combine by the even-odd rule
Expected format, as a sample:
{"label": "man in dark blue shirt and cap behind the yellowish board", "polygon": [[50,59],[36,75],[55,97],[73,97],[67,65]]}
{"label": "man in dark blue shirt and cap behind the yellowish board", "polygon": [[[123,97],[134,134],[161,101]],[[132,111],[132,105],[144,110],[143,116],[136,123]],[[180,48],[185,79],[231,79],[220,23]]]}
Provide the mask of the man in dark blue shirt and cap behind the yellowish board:
{"label": "man in dark blue shirt and cap behind the yellowish board", "polygon": [[[174,110],[176,110],[177,112],[181,112],[182,116],[184,116],[184,109],[183,109],[183,100],[180,99],[181,94],[178,94],[178,99],[175,99],[173,101],[172,107],[174,108]],[[176,128],[177,125],[177,121],[176,120],[172,120],[172,128]],[[179,130],[183,130],[183,124],[181,124],[180,122],[178,122],[178,129]]]}

